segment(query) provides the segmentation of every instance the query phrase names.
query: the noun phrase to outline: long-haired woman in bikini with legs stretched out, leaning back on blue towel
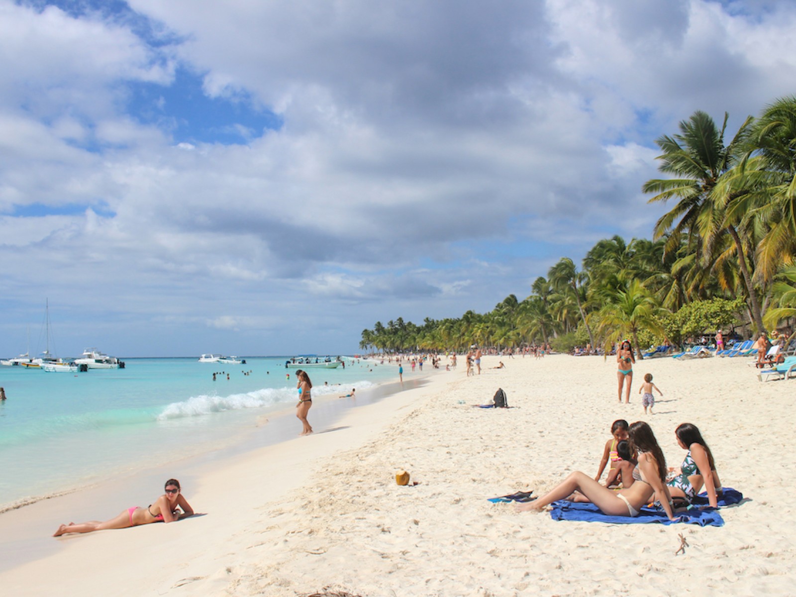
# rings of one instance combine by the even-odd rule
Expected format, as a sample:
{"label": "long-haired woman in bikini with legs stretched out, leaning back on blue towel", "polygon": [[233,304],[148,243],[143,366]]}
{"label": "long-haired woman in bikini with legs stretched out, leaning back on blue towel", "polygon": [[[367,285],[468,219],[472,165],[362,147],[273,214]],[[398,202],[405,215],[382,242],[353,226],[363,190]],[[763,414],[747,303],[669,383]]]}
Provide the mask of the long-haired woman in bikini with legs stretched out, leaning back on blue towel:
{"label": "long-haired woman in bikini with legs stretched out, leaning back on blue towel", "polygon": [[541,512],[544,506],[553,501],[563,500],[573,492],[579,491],[609,516],[636,517],[642,506],[649,503],[650,498],[654,496],[669,520],[675,520],[672,498],[665,484],[666,459],[661,447],[657,445],[652,429],[643,421],[638,421],[630,425],[627,431],[631,446],[638,451],[638,466],[633,471],[635,480],[633,485],[627,489],[612,491],[587,474],[576,471],[537,501],[520,505],[517,510]]}

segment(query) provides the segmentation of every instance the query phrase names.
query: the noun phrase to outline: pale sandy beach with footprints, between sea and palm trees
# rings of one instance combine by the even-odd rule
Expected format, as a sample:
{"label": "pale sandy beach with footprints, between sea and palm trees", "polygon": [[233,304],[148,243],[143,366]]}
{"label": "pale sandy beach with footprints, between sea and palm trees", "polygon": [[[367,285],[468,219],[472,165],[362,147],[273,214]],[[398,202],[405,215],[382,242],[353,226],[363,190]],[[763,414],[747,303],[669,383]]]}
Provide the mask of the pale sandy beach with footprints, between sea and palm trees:
{"label": "pale sandy beach with footprints, between sea and palm trees", "polygon": [[[638,379],[632,403],[618,404],[611,360],[502,360],[506,369],[470,378],[463,368],[441,372],[423,388],[350,410],[328,432],[208,466],[183,480],[205,516],[52,539],[57,551],[0,573],[0,583],[10,595],[791,591],[796,515],[783,498],[796,473],[794,381],[761,384],[746,359],[642,361],[637,377],[653,373],[664,392],[644,417]],[[470,407],[498,387],[516,408]],[[487,501],[541,493],[571,470],[595,474],[619,417],[648,421],[670,466],[684,456],[674,428],[695,423],[724,485],[748,501],[722,510],[722,528],[558,522]],[[419,485],[396,486],[401,468]],[[95,516],[109,507],[90,505]],[[108,517],[126,505],[113,505]],[[73,513],[39,507],[50,532]],[[679,534],[689,547],[676,556]]]}

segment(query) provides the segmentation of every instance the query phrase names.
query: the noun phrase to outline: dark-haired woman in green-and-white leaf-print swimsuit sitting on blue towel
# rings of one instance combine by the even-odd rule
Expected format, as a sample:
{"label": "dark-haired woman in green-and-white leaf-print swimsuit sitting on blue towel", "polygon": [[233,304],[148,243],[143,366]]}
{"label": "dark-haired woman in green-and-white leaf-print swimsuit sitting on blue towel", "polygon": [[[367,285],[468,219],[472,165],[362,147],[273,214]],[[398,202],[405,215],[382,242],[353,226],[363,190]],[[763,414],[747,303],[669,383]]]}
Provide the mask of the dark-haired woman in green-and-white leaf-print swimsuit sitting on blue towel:
{"label": "dark-haired woman in green-and-white leaf-print swimsuit sitting on blue towel", "polygon": [[[680,466],[680,474],[667,483],[669,494],[672,497],[684,497],[692,501],[704,485],[708,492],[708,503],[718,507],[717,494],[721,491],[719,474],[716,473],[716,463],[708,444],[702,439],[702,434],[696,425],[683,423],[674,431],[677,443],[683,450],[688,450],[685,460]],[[674,471],[673,469],[670,469]]]}

